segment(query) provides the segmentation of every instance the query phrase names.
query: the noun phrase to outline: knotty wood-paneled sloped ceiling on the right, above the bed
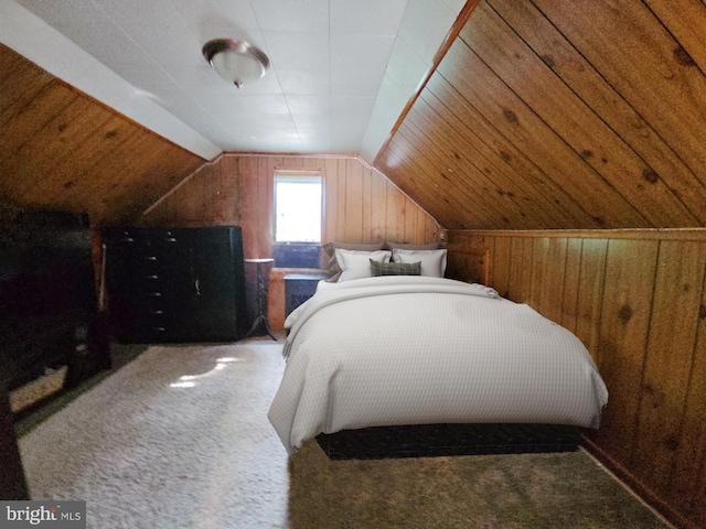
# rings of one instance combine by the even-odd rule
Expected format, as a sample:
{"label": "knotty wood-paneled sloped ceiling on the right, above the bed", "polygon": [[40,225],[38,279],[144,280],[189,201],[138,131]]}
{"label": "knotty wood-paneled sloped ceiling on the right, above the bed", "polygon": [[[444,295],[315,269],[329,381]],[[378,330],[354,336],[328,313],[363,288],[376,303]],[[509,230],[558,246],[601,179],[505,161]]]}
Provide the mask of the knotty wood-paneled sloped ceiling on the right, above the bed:
{"label": "knotty wood-paneled sloped ceiling on the right, above the bed", "polygon": [[445,228],[703,227],[706,6],[482,0],[375,165]]}

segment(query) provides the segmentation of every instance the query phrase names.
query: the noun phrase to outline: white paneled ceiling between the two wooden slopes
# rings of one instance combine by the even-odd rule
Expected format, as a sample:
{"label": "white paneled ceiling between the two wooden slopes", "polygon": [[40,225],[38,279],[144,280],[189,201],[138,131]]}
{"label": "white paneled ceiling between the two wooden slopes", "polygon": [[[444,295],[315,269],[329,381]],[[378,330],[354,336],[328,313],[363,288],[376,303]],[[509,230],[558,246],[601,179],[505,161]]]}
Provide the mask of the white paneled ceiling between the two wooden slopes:
{"label": "white paneled ceiling between the two wooden slopes", "polygon": [[[372,162],[464,0],[0,0],[0,41],[203,158],[345,153]],[[215,37],[268,54],[236,88]]]}

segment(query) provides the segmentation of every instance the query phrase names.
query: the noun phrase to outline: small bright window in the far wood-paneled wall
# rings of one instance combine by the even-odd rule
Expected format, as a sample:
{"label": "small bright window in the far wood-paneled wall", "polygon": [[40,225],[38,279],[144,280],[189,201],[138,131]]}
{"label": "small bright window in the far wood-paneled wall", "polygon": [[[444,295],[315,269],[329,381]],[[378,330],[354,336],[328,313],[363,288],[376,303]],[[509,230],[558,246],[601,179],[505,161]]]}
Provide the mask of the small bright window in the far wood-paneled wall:
{"label": "small bright window in the far wood-paneled wall", "polygon": [[275,242],[321,244],[320,172],[275,171]]}

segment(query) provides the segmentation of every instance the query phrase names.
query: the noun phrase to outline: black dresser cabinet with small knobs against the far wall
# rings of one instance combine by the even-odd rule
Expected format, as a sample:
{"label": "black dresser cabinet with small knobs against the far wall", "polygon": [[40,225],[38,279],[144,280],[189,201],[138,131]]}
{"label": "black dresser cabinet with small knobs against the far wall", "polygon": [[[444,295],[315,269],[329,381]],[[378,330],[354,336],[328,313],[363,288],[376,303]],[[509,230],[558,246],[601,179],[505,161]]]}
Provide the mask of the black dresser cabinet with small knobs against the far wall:
{"label": "black dresser cabinet with small knobs against the far wall", "polygon": [[105,240],[119,342],[229,342],[245,335],[239,227],[119,227],[108,229]]}

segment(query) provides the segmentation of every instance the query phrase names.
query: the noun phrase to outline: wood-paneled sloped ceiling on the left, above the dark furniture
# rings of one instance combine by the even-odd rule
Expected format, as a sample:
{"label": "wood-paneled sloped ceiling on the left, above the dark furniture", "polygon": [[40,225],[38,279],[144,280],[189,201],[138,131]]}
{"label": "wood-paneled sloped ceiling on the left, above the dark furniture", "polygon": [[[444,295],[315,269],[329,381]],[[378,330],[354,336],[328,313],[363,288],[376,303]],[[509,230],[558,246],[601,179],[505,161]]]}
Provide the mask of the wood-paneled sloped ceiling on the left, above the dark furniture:
{"label": "wood-paneled sloped ceiling on the left, above the dark furniture", "polygon": [[205,161],[0,44],[0,201],[138,217]]}

